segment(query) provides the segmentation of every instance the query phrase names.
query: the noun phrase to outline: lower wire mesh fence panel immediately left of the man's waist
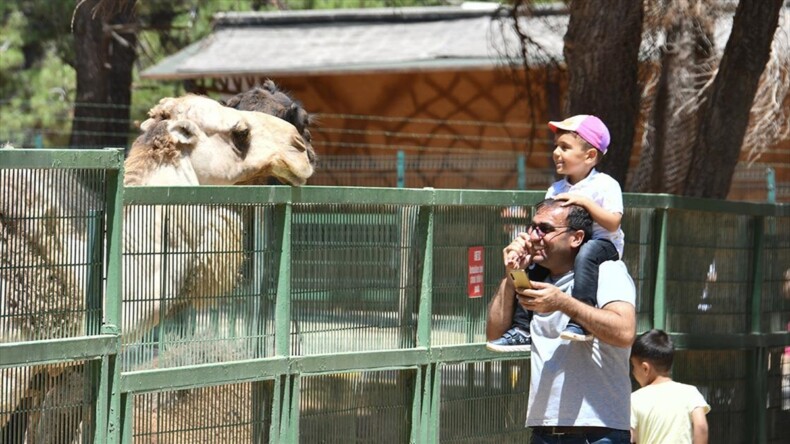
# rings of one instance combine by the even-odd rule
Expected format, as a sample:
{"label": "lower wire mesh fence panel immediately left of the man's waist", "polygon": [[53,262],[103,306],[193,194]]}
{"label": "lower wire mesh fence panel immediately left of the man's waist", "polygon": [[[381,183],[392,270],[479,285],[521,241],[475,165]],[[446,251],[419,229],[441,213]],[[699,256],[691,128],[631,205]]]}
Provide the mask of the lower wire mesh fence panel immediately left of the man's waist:
{"label": "lower wire mesh fence panel immediately left of the man's waist", "polygon": [[529,360],[446,364],[441,391],[440,442],[529,441]]}

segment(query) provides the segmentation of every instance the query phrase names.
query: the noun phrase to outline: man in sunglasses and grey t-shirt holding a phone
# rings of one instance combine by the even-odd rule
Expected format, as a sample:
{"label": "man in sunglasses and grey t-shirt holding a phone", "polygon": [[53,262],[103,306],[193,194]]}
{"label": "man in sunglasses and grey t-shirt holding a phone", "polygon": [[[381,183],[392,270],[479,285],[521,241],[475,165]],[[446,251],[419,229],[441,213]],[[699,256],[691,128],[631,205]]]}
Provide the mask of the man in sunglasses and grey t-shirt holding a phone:
{"label": "man in sunglasses and grey t-shirt holding a phone", "polygon": [[[532,358],[527,426],[532,443],[613,443],[630,441],[630,347],[636,335],[636,290],[625,264],[601,265],[598,307],[574,299],[573,263],[592,231],[589,213],[576,205],[545,200],[536,207],[526,233],[508,245],[507,273],[540,264],[546,282],[516,288],[509,277],[489,306],[488,340],[510,327],[518,298],[531,321]],[[592,333],[591,342],[572,342],[560,334],[573,318]]]}

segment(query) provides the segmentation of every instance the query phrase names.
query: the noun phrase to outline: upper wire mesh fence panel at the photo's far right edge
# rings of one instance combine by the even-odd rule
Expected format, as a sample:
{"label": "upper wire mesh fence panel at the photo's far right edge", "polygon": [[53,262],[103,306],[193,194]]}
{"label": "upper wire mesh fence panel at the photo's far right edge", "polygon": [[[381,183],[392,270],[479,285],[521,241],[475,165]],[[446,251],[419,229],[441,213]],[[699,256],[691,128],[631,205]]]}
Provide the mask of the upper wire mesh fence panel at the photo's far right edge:
{"label": "upper wire mesh fence panel at the photo's far right edge", "polygon": [[763,332],[790,331],[790,217],[766,217],[763,222]]}

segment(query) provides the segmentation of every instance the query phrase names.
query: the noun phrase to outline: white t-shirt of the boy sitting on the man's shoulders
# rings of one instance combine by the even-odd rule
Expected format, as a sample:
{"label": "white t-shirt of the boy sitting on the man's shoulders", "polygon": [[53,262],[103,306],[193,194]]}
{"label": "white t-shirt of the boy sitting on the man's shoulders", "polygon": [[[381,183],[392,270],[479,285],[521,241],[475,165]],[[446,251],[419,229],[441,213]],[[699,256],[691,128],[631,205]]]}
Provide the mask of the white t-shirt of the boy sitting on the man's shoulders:
{"label": "white t-shirt of the boy sitting on the man's shoulders", "polygon": [[[595,168],[575,185],[571,185],[567,178],[554,182],[546,191],[546,199],[560,193],[579,194],[589,198],[606,211],[623,214],[623,192],[620,184],[612,176],[601,173]],[[622,227],[617,227],[617,231],[609,231],[597,222],[593,222],[593,239],[609,239],[617,248],[620,258],[623,258],[625,234]]]}

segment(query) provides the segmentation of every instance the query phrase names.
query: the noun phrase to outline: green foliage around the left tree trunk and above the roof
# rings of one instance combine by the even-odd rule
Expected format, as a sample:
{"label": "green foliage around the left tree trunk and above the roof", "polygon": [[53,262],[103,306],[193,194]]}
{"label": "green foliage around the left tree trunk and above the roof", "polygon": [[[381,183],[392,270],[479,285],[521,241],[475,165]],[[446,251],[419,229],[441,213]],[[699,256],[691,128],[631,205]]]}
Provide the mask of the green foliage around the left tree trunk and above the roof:
{"label": "green foliage around the left tree trunk and above the roof", "polygon": [[[112,0],[105,0],[112,1]],[[74,0],[0,1],[0,144],[66,146],[76,89]],[[211,32],[212,16],[228,11],[329,9],[446,4],[442,0],[150,0],[139,1],[138,59],[130,116],[136,123],[162,97],[184,93],[181,82],[154,82],[139,72]],[[85,7],[85,6],[83,6]],[[130,134],[130,139],[135,134]]]}

